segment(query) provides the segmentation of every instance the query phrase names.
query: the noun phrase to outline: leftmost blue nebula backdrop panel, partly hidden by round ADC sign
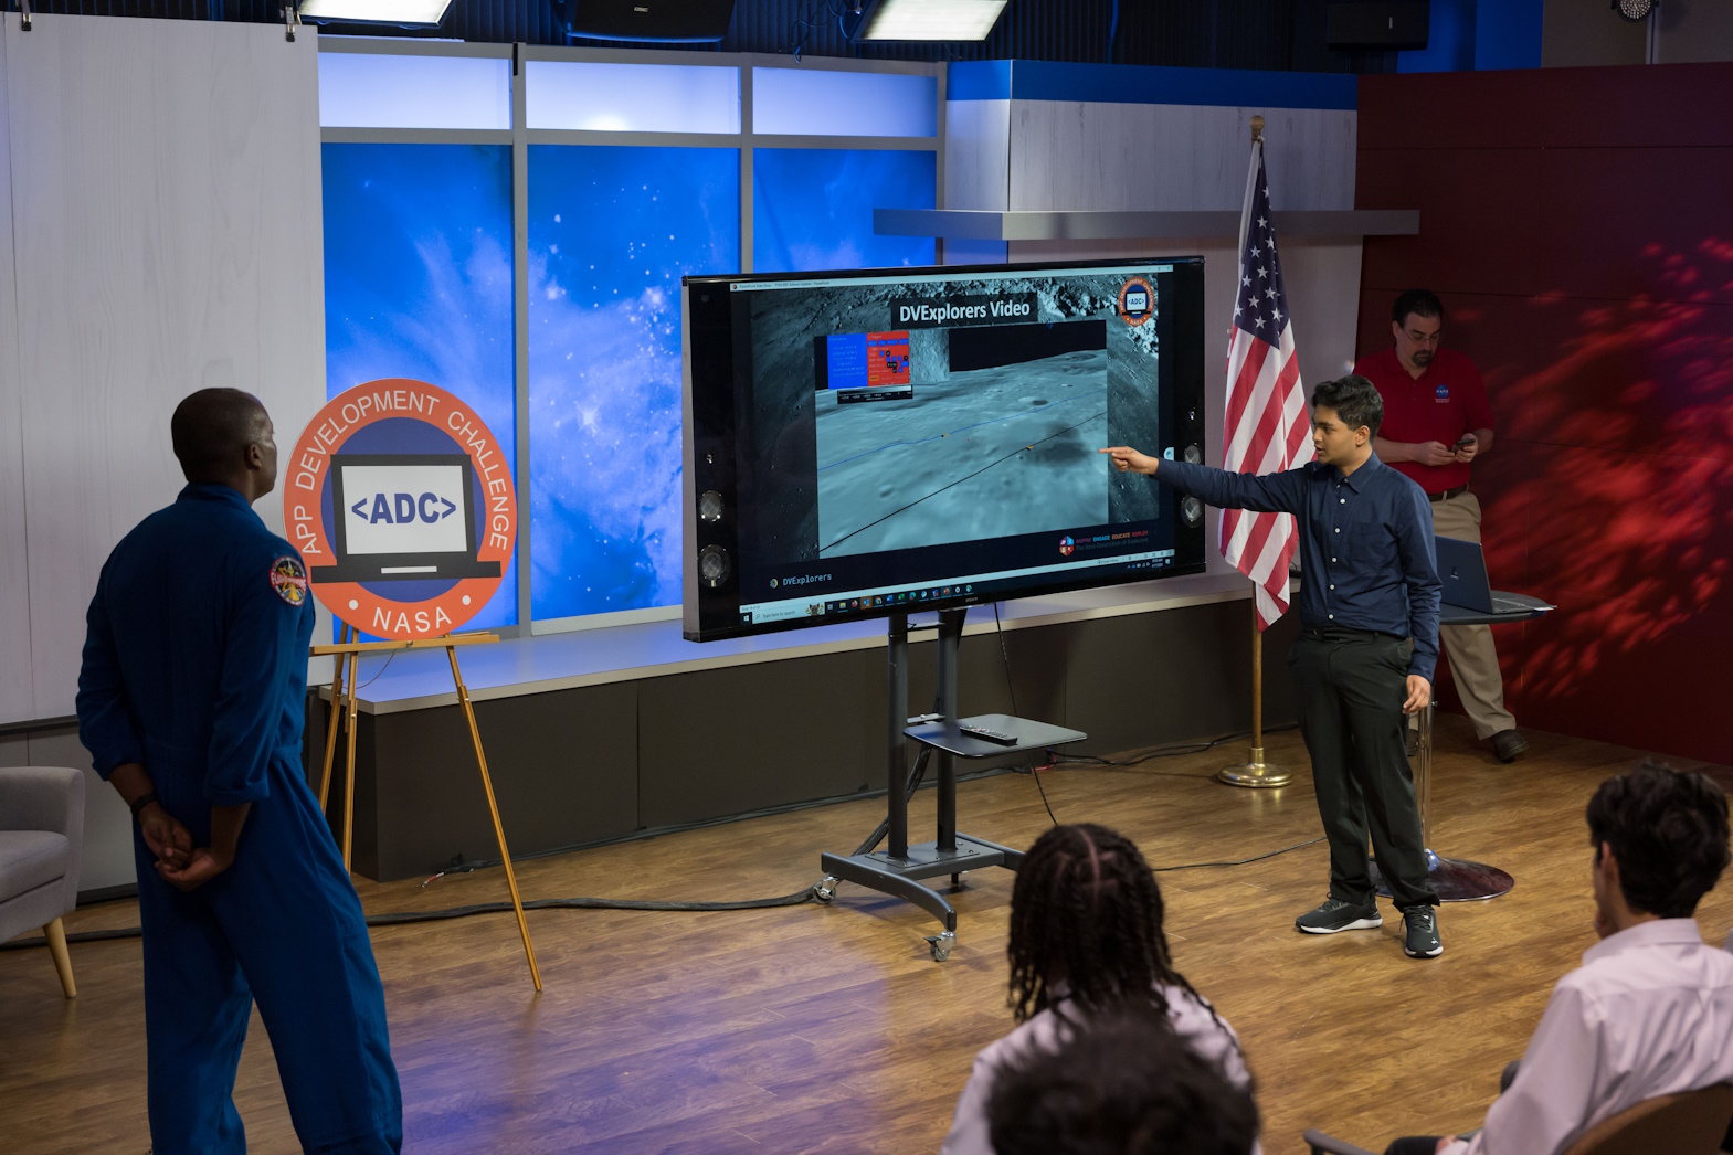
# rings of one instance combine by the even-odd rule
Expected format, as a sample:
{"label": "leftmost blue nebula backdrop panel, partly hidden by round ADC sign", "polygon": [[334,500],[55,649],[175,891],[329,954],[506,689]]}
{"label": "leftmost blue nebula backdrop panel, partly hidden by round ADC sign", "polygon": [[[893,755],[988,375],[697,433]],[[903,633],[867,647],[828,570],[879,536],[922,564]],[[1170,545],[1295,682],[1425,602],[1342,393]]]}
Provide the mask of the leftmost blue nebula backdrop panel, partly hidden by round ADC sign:
{"label": "leftmost blue nebula backdrop panel, partly hidden by round ADC sign", "polygon": [[[511,149],[326,144],[322,161],[326,397],[378,377],[438,384],[516,462]],[[516,620],[513,563],[466,629]]]}

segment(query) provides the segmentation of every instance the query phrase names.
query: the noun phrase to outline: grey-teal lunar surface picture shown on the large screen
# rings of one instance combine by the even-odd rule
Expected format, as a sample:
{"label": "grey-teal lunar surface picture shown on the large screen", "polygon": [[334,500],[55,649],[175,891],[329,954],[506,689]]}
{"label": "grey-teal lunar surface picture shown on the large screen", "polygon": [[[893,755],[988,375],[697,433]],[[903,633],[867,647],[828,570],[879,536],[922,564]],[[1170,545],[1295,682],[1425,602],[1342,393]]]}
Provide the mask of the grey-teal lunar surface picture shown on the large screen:
{"label": "grey-teal lunar surface picture shown on the large screen", "polygon": [[[950,352],[925,352],[948,357],[938,374],[922,372],[917,343],[912,398],[842,403],[837,390],[816,395],[821,558],[1109,519],[1095,455],[1107,436],[1102,322],[1019,329],[1036,339],[951,331]],[[1055,343],[1043,329],[1071,334]],[[970,352],[960,353],[965,336]],[[1083,348],[993,364],[1055,345]]]}

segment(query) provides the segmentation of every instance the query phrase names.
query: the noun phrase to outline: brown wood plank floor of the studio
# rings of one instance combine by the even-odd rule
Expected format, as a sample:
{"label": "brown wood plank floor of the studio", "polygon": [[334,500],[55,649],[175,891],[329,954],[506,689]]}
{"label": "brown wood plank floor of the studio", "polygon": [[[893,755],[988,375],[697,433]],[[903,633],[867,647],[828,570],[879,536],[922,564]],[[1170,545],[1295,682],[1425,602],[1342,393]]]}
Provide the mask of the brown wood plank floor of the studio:
{"label": "brown wood plank floor of the studio", "polygon": [[[1594,942],[1582,807],[1636,755],[1530,739],[1529,758],[1504,767],[1463,719],[1440,719],[1435,849],[1516,876],[1503,899],[1442,909],[1442,959],[1407,959],[1392,918],[1376,933],[1295,933],[1295,914],[1324,895],[1322,843],[1161,874],[1177,961],[1244,1041],[1270,1155],[1303,1150],[1308,1126],[1376,1148],[1393,1134],[1475,1126],[1551,984]],[[1213,784],[1210,772],[1239,746],[1042,778],[1061,821],[1116,824],[1158,866],[1239,859],[1319,833],[1298,736],[1269,746],[1298,771],[1293,786]],[[789,894],[816,881],[820,850],[853,849],[882,805],[541,859],[520,868],[520,881],[525,897]],[[924,791],[917,831],[931,829],[931,807]],[[1010,845],[1047,826],[1029,776],[965,783],[958,809],[965,831]],[[541,996],[510,914],[374,930],[406,1150],[936,1150],[972,1055],[1010,1027],[1010,881],[1005,871],[967,878],[943,965],[922,939],[936,923],[847,885],[828,907],[532,913]],[[369,913],[432,909],[499,899],[504,880],[487,871],[425,890],[362,881],[360,895]],[[1733,883],[1698,916],[1719,942],[1733,926]],[[135,918],[133,904],[116,902],[78,911],[68,930]],[[139,958],[137,940],[75,945],[80,994],[66,1001],[45,951],[0,952],[7,1152],[146,1152]],[[256,1015],[236,1103],[251,1150],[298,1150]]]}

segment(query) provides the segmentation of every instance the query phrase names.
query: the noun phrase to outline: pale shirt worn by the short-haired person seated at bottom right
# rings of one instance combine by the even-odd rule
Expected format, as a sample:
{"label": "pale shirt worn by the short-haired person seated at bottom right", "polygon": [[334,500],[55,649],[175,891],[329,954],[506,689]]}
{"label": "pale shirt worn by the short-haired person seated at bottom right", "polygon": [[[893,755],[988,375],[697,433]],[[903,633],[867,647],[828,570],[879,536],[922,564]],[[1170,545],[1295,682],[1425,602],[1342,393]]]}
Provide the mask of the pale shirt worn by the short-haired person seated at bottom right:
{"label": "pale shirt worn by the short-haired person seated at bottom right", "polygon": [[1516,1081],[1449,1155],[1556,1155],[1658,1094],[1733,1081],[1733,954],[1695,918],[1638,923],[1553,987]]}

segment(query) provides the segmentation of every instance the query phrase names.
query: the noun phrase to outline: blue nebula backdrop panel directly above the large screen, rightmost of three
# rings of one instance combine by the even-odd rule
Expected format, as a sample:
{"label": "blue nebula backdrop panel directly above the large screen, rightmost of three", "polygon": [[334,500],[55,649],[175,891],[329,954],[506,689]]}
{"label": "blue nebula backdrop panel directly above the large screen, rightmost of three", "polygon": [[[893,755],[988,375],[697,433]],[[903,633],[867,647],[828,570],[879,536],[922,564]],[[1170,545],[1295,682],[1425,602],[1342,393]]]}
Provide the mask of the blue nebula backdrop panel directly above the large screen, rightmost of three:
{"label": "blue nebula backdrop panel directly above the large screen, rightmost of three", "polygon": [[754,149],[752,272],[931,265],[932,237],[880,237],[872,211],[936,204],[936,152]]}

